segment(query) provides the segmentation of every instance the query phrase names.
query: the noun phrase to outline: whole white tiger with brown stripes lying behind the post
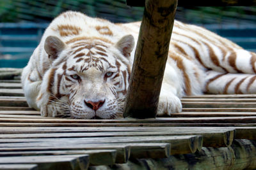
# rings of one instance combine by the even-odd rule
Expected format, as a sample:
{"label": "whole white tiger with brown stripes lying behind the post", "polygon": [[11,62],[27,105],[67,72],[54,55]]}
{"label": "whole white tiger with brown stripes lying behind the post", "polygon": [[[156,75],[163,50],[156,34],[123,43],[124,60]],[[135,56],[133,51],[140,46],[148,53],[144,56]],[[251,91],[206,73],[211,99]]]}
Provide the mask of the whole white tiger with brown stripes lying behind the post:
{"label": "whole white tiger with brown stripes lying behind the post", "polygon": [[[24,68],[29,106],[45,117],[115,118],[122,113],[140,22],[113,24],[68,11],[47,27]],[[182,110],[180,97],[256,93],[255,53],[175,21],[158,115]]]}

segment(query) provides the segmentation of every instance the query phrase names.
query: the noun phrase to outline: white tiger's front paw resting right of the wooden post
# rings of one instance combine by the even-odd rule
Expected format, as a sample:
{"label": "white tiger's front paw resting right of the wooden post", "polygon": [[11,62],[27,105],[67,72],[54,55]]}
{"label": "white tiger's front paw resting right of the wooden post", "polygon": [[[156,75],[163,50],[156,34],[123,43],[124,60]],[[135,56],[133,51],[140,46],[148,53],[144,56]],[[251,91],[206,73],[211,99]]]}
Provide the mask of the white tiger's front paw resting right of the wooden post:
{"label": "white tiger's front paw resting right of the wooden post", "polygon": [[182,104],[177,96],[160,96],[157,108],[157,116],[171,115],[179,113],[182,110]]}

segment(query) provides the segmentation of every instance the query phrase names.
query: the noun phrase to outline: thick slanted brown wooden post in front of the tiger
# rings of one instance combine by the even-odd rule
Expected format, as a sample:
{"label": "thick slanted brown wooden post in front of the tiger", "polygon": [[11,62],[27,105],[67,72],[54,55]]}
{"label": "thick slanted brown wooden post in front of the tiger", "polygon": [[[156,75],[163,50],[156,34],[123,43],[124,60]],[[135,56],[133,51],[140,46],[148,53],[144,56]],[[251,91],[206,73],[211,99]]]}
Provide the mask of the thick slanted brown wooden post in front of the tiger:
{"label": "thick slanted brown wooden post in front of the tiger", "polygon": [[145,3],[124,117],[156,117],[176,8],[177,0]]}

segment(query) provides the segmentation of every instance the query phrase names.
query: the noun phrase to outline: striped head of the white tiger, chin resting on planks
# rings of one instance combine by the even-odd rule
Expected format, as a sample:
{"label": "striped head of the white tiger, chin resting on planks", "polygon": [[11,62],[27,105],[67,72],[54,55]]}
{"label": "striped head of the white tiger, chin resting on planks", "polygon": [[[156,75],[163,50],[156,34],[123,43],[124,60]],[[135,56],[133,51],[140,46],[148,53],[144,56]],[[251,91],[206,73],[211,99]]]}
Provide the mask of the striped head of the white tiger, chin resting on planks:
{"label": "striped head of the white tiger, chin resting on planks", "polygon": [[115,118],[122,113],[133,36],[124,36],[117,43],[88,37],[63,42],[48,36],[44,48],[51,62],[44,76],[47,104],[55,104],[58,115],[89,119]]}

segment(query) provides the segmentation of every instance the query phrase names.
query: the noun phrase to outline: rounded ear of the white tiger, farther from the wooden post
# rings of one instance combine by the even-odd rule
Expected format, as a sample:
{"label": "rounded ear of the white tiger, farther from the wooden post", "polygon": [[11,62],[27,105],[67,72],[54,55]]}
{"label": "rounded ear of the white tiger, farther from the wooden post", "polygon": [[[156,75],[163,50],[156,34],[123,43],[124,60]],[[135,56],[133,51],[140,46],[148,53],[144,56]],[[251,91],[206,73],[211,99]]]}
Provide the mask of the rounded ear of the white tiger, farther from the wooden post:
{"label": "rounded ear of the white tiger, farther from the wooden post", "polygon": [[45,52],[49,55],[49,60],[52,62],[53,60],[58,58],[58,54],[64,50],[65,43],[63,43],[56,36],[48,36],[45,39],[44,49]]}

